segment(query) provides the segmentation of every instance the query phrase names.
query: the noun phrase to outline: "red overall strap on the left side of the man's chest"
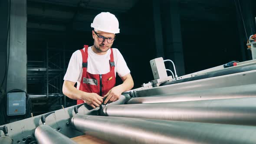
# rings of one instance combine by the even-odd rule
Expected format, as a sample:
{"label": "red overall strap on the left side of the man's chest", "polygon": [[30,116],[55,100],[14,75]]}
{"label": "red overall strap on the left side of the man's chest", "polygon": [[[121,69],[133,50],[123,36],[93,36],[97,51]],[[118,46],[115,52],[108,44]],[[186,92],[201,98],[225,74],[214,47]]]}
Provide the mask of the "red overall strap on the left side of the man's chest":
{"label": "red overall strap on the left side of the man's chest", "polygon": [[83,77],[86,76],[87,74],[87,59],[88,59],[88,45],[84,45],[85,51],[83,49],[80,49],[82,53],[82,79],[80,82],[79,90],[82,88],[82,83],[83,83]]}

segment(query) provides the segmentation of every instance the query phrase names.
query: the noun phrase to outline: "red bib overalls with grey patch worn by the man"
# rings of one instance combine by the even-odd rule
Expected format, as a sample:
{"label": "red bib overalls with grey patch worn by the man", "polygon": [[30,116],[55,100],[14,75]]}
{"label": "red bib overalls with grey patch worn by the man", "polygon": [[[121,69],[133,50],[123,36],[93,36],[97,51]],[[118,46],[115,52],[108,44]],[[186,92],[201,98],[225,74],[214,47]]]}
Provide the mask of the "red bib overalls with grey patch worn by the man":
{"label": "red bib overalls with grey patch worn by the man", "polygon": [[[85,51],[80,49],[82,53],[82,79],[79,90],[84,92],[94,92],[100,96],[104,96],[115,86],[115,63],[113,50],[111,49],[109,69],[106,74],[91,74],[87,72],[88,46],[84,46]],[[84,103],[83,100],[77,100],[77,105]]]}

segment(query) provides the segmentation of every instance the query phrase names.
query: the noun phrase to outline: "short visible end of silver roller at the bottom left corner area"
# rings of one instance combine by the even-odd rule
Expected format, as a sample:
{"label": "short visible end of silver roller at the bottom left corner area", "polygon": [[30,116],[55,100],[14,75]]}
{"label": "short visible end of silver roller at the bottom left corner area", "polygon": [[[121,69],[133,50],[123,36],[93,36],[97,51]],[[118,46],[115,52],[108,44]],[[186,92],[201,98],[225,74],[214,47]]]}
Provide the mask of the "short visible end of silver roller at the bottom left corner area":
{"label": "short visible end of silver roller at the bottom left corner area", "polygon": [[76,144],[69,137],[45,124],[36,128],[35,137],[38,144]]}

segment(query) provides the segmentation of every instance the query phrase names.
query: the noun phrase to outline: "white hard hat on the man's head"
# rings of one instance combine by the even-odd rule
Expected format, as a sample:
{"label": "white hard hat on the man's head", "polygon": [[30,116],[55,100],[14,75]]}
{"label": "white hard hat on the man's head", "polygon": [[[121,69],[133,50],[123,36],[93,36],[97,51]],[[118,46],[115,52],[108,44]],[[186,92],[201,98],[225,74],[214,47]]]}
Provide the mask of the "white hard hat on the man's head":
{"label": "white hard hat on the man's head", "polygon": [[95,16],[91,27],[107,33],[119,33],[119,23],[115,15],[109,12],[102,12]]}

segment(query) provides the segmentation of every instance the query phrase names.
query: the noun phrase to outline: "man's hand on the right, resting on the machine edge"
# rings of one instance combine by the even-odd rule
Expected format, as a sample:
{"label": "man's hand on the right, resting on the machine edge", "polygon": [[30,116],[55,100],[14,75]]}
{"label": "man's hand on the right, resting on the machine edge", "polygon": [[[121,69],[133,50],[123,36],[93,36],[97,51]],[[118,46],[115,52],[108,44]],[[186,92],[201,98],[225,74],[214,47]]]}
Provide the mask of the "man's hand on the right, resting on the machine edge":
{"label": "man's hand on the right, resting on the machine edge", "polygon": [[110,102],[117,101],[120,98],[121,93],[122,93],[122,89],[119,88],[119,85],[115,86],[110,91],[108,91],[106,95],[103,96],[104,98],[107,97],[104,101],[104,104],[107,104],[108,101]]}

